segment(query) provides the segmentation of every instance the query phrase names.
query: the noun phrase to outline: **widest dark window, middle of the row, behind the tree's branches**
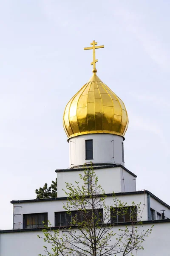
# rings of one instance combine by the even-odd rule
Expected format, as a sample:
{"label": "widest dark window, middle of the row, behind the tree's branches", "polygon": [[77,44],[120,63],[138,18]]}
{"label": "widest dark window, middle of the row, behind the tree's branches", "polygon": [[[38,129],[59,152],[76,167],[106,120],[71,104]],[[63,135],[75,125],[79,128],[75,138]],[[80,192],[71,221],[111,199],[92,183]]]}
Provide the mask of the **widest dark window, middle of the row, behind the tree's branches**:
{"label": "widest dark window, middle of the row, behind the tree's branches", "polygon": [[[68,212],[56,212],[55,213],[55,226],[56,227],[63,227],[63,226],[70,226],[70,225],[77,225],[78,223],[82,223],[85,221],[92,220],[93,214],[92,210],[86,211],[71,211]],[[94,212],[94,222],[96,224],[102,224],[103,221],[103,209],[96,209]]]}

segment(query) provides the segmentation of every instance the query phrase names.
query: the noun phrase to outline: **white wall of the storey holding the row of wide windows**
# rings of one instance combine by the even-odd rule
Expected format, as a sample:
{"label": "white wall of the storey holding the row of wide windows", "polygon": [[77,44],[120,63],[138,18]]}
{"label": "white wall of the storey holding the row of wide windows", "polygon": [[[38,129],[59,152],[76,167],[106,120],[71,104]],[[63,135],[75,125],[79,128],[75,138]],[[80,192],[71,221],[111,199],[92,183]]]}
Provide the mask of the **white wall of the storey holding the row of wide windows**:
{"label": "white wall of the storey holding the row of wide windows", "polygon": [[[161,213],[161,210],[165,210],[166,218],[170,218],[170,207],[166,204],[161,203],[159,198],[156,198],[153,194],[148,191],[137,191],[137,192],[126,192],[117,193],[116,198],[122,203],[127,203],[128,206],[132,205],[134,202],[136,205],[140,205],[141,209],[141,221],[150,220],[150,208],[156,212]],[[33,213],[48,213],[48,220],[50,221],[52,227],[55,227],[55,212],[64,212],[63,205],[66,204],[67,198],[54,198],[54,199],[39,199],[39,200],[25,200],[25,201],[14,201],[14,229],[23,229],[23,216],[24,214]],[[106,205],[113,204],[113,197],[107,196],[105,200]],[[157,220],[157,215],[155,220]]]}

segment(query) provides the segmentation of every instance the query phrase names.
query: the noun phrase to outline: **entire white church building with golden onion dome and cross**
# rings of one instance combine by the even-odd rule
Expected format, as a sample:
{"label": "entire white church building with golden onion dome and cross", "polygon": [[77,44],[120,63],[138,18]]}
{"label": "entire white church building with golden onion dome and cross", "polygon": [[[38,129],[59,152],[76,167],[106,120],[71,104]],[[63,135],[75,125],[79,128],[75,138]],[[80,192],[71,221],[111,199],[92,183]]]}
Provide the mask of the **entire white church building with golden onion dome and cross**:
{"label": "entire white church building with golden onion dome and cross", "polygon": [[[0,230],[0,256],[38,256],[43,252],[43,222],[52,227],[67,227],[65,183],[79,181],[84,165],[93,166],[98,183],[105,190],[110,204],[113,192],[127,205],[140,204],[144,229],[154,225],[152,233],[137,256],[169,256],[170,206],[148,190],[136,190],[137,176],[125,167],[124,143],[128,128],[128,115],[124,102],[97,76],[95,49],[103,48],[93,41],[93,71],[88,82],[67,103],[63,126],[68,137],[69,167],[57,169],[57,198],[11,201],[13,229]],[[83,81],[82,81],[83,83]],[[65,102],[66,103],[66,102]],[[54,176],[55,177],[55,176]],[[109,178],[108,178],[109,177]],[[117,217],[126,225],[126,215]],[[122,254],[120,254],[122,255]],[[130,255],[130,254],[129,254]]]}

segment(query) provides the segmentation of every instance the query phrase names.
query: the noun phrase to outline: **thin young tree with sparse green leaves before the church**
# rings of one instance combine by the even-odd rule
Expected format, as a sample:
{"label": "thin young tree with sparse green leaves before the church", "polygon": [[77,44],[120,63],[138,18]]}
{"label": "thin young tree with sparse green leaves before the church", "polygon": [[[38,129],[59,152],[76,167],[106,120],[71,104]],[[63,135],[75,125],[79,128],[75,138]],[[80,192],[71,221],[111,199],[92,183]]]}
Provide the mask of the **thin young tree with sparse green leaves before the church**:
{"label": "thin young tree with sparse green leaves before the church", "polygon": [[[144,249],[142,243],[152,228],[141,231],[140,204],[132,202],[127,206],[113,194],[113,203],[108,205],[93,166],[85,166],[84,175],[79,176],[80,183],[66,183],[68,201],[63,208],[67,227],[53,230],[48,223],[42,230],[51,250],[44,246],[45,253],[48,256],[133,256],[134,250]],[[115,232],[114,227],[125,218],[127,223]]]}

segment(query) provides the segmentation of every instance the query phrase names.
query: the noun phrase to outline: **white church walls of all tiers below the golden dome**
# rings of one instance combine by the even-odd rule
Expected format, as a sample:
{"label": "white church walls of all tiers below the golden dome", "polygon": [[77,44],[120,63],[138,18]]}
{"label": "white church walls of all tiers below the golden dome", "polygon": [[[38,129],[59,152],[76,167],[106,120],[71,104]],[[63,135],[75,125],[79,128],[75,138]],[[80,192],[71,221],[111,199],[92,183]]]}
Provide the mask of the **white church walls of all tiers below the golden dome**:
{"label": "white church walls of all tiers below the golden dome", "polygon": [[[92,142],[92,148],[88,149],[92,154],[89,154],[86,148],[87,140]],[[73,137],[68,142],[70,166],[68,169],[56,170],[58,198],[12,201],[11,203],[14,205],[13,230],[0,230],[0,256],[44,254],[43,246],[46,244],[43,239],[37,238],[37,234],[43,236],[41,228],[39,228],[44,225],[43,218],[50,221],[54,228],[62,229],[63,226],[70,224],[66,221],[66,213],[63,209],[63,205],[67,203],[65,183],[74,184],[75,181],[79,181],[79,186],[81,186],[83,181],[80,180],[79,175],[84,175],[85,163],[87,168],[92,163],[98,177],[98,184],[107,195],[105,199],[107,206],[116,207],[112,197],[115,193],[116,198],[129,207],[133,204],[140,205],[138,221],[144,223],[143,227],[140,227],[141,230],[147,230],[153,224],[155,225],[153,232],[144,243],[145,250],[139,251],[137,255],[168,256],[170,254],[170,220],[168,220],[168,218],[170,219],[170,206],[149,191],[136,191],[136,175],[125,168],[124,137],[104,133],[86,134]],[[166,219],[163,219],[163,215],[161,215],[162,210]],[[131,212],[131,208],[129,212]],[[129,221],[131,217],[125,219],[125,212],[123,214],[122,221]],[[105,209],[103,209],[103,215],[105,215]],[[56,216],[59,216],[57,221]],[[61,216],[64,216],[64,221]],[[120,221],[118,215],[116,221]],[[119,233],[119,225],[122,227],[124,223],[116,223],[113,227],[114,232]],[[130,227],[130,223],[126,223],[126,225]],[[113,236],[112,243],[115,239],[116,237]]]}

